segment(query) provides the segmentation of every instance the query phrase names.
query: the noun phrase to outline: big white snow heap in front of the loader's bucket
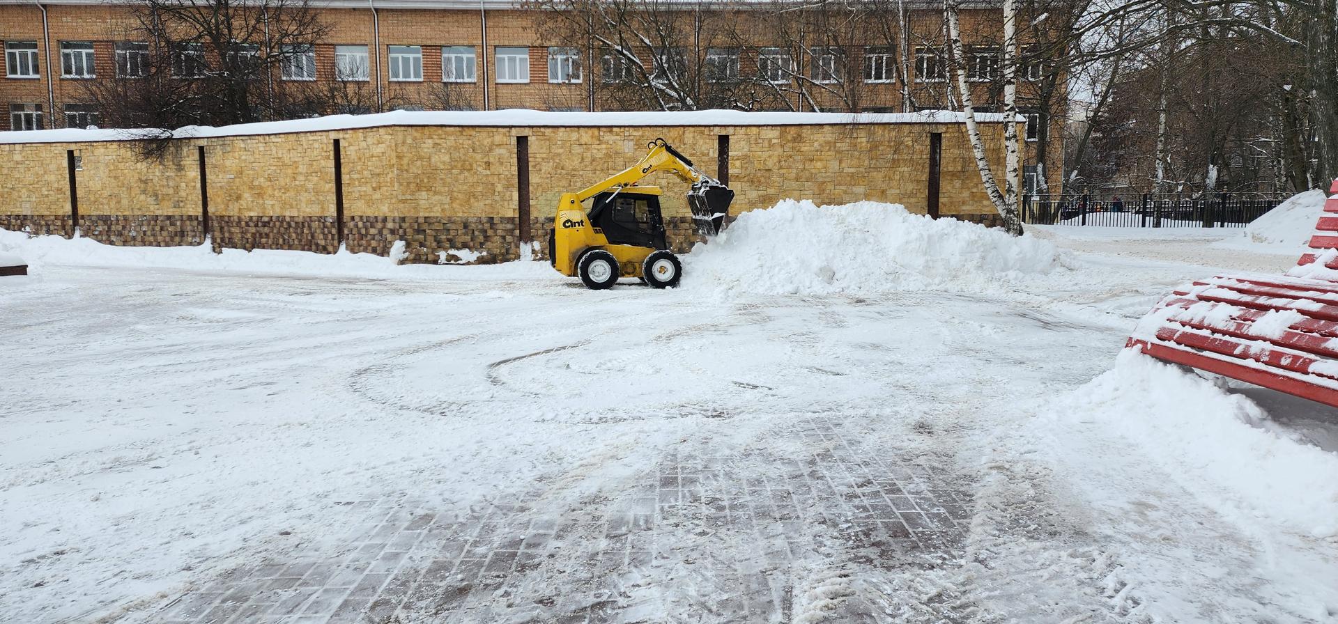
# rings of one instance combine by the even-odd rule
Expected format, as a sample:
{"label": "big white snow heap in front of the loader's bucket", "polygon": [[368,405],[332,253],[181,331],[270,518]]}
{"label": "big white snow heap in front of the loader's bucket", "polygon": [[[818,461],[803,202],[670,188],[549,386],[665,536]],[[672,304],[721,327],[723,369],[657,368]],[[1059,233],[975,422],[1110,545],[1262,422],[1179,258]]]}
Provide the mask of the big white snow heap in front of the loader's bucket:
{"label": "big white snow heap in front of the loader's bucket", "polygon": [[1058,251],[957,219],[930,219],[899,204],[815,206],[787,199],[739,215],[684,259],[686,287],[757,294],[987,290],[1001,279],[1044,274]]}

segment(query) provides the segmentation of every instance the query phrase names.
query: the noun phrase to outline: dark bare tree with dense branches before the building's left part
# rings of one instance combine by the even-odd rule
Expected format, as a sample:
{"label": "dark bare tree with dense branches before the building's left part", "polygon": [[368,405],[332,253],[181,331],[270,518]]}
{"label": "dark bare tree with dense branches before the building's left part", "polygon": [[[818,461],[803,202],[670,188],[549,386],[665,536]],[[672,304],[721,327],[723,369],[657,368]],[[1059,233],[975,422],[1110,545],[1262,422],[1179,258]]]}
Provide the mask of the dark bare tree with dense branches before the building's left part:
{"label": "dark bare tree with dense branches before the building's left part", "polygon": [[86,83],[111,126],[225,126],[326,108],[313,84],[328,25],[306,0],[143,0],[130,12],[116,76]]}

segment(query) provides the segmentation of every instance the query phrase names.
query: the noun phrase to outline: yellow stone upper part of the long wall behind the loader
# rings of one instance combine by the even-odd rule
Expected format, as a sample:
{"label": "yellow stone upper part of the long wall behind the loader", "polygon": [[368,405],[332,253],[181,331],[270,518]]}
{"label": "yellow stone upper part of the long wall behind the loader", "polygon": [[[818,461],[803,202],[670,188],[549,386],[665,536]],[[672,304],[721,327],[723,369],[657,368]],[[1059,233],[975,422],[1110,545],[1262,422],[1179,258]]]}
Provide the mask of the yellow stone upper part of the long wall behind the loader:
{"label": "yellow stone upper part of the long wall behind the loader", "polygon": [[[1002,176],[1004,124],[986,123],[981,128],[995,175]],[[632,166],[656,138],[668,139],[701,171],[719,176],[720,135],[729,136],[729,186],[737,192],[733,214],[765,208],[787,198],[819,204],[895,202],[925,212],[931,132],[943,135],[941,214],[990,220],[994,208],[983,192],[963,124],[864,123],[379,127],[182,139],[154,160],[140,159],[127,142],[0,144],[0,167],[7,172],[0,179],[0,226],[20,223],[15,218],[21,215],[68,216],[66,150],[76,150],[83,159],[83,170],[76,174],[82,222],[96,215],[157,218],[162,223],[155,230],[157,245],[174,245],[169,241],[173,228],[181,230],[182,237],[198,238],[197,147],[203,146],[210,218],[241,237],[227,238],[223,245],[333,249],[337,245],[333,140],[340,139],[345,219],[365,216],[385,223],[368,224],[372,222],[364,219],[364,227],[373,228],[365,235],[393,238],[397,227],[423,227],[427,231],[421,235],[435,237],[440,245],[463,241],[466,235],[470,238],[463,242],[478,245],[475,239],[483,237],[502,253],[518,241],[514,231],[519,216],[518,136],[529,138],[530,216],[541,222],[551,218],[561,192],[579,190]],[[646,183],[665,190],[668,218],[689,215],[684,182],[660,174]],[[178,220],[162,222],[162,218]],[[118,223],[127,223],[116,227],[130,234],[112,243],[136,245],[132,230],[138,226]],[[282,227],[296,230],[278,231]],[[268,232],[274,237],[266,238]],[[539,232],[533,232],[533,238],[541,238]],[[431,254],[425,247],[432,245],[438,243],[424,243],[423,254]]]}

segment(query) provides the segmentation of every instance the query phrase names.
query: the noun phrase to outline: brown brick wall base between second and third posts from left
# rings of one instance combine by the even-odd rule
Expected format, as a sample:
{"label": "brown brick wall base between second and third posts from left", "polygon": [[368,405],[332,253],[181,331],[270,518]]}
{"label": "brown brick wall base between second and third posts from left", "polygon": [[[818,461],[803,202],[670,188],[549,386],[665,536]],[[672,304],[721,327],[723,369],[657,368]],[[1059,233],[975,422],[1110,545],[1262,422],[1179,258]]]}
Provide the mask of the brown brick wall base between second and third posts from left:
{"label": "brown brick wall base between second and third posts from left", "polygon": [[[339,250],[333,216],[214,216],[209,218],[214,251],[284,249],[333,254]],[[385,251],[381,251],[385,255]]]}

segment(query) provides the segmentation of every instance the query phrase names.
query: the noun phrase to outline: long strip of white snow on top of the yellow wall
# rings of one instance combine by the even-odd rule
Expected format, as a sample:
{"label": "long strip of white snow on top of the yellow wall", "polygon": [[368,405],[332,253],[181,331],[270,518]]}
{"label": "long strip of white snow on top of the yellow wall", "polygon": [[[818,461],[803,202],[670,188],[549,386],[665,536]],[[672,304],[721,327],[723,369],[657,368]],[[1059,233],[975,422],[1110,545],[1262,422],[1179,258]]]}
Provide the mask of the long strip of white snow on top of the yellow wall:
{"label": "long strip of white snow on top of the yellow wall", "polygon": [[[979,112],[981,123],[1002,123],[1001,112]],[[852,123],[962,123],[965,115],[953,111],[921,112],[546,112],[529,110],[504,111],[392,111],[376,115],[329,115],[288,122],[245,123],[237,126],[187,126],[171,132],[177,139],[214,136],[274,135],[320,132],[332,130],[380,128],[388,126],[475,126],[475,127],[570,127],[570,126],[836,126]],[[1017,122],[1025,119],[1018,115]],[[140,139],[134,130],[28,130],[0,132],[0,143],[84,143]]]}

